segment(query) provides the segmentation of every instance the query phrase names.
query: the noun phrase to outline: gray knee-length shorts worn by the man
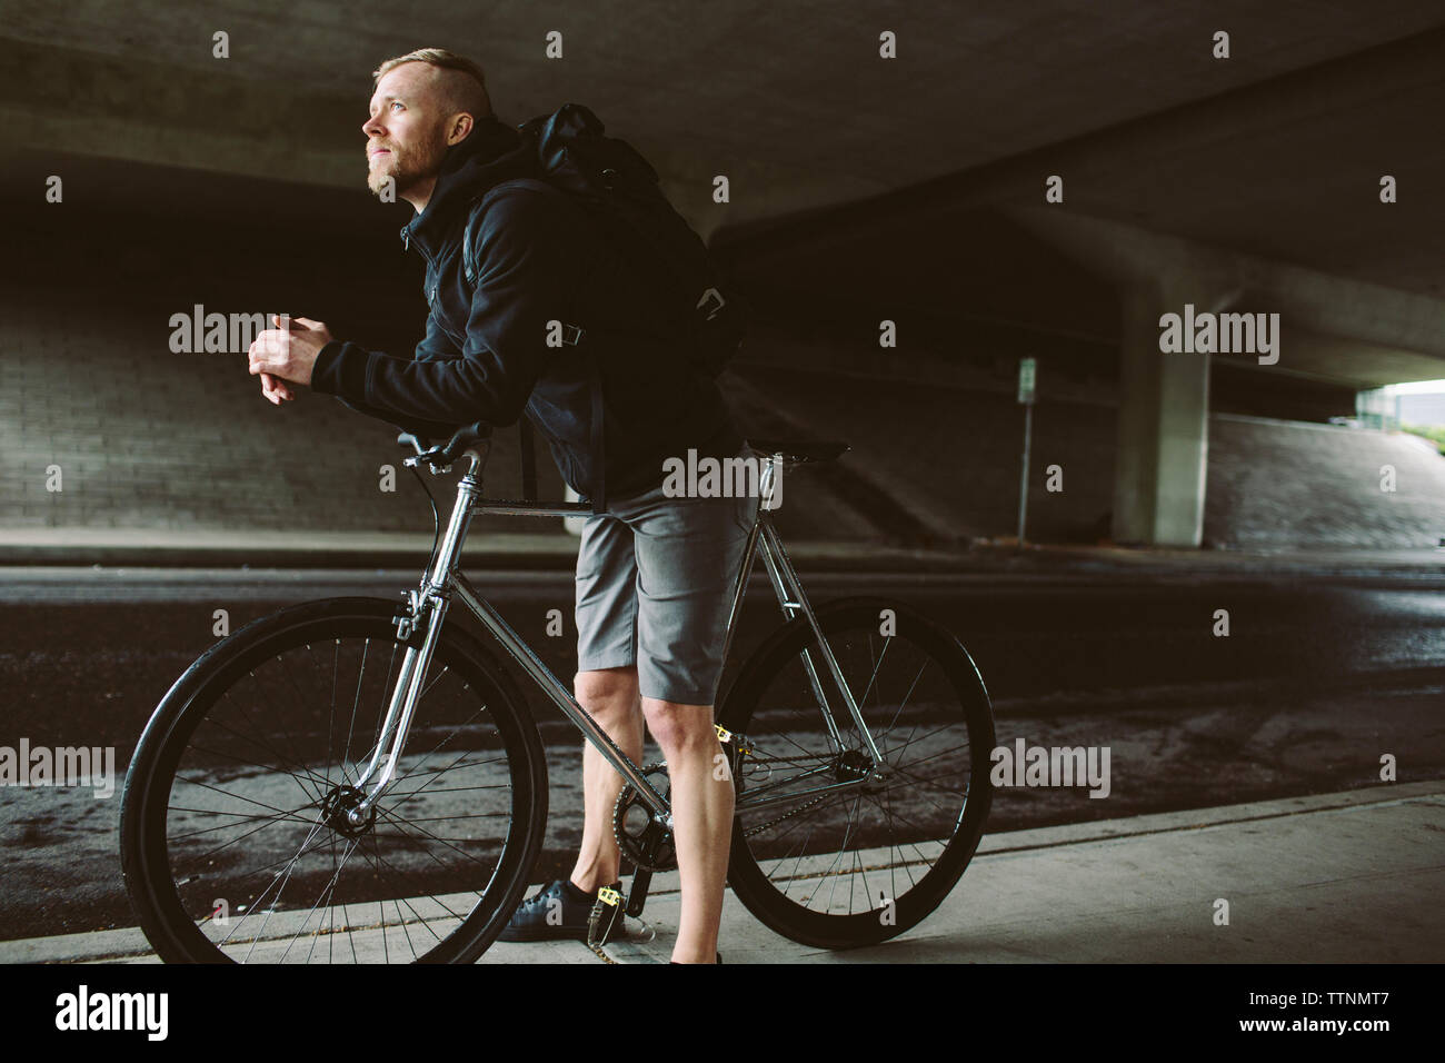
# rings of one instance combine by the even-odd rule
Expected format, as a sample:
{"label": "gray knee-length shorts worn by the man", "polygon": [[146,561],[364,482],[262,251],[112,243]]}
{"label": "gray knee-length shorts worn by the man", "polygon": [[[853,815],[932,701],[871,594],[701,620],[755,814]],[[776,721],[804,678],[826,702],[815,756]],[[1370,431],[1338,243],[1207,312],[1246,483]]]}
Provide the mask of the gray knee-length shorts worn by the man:
{"label": "gray knee-length shorts worn by the man", "polygon": [[577,554],[577,668],[637,665],[639,693],[712,704],[756,498],[662,487],[587,518]]}

